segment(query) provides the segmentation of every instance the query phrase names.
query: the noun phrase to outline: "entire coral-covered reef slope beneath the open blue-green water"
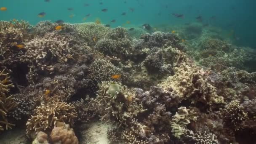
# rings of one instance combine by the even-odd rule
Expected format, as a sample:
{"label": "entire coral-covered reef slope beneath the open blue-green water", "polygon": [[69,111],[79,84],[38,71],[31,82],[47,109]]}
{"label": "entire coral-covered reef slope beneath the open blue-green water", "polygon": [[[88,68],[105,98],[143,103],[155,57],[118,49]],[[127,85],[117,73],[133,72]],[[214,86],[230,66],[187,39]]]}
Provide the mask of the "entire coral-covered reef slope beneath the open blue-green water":
{"label": "entire coral-covered reef slope beneath the open blue-green water", "polygon": [[0,131],[26,125],[29,141],[51,144],[101,135],[113,144],[255,143],[252,50],[209,31],[191,24],[185,41],[95,23],[0,21]]}

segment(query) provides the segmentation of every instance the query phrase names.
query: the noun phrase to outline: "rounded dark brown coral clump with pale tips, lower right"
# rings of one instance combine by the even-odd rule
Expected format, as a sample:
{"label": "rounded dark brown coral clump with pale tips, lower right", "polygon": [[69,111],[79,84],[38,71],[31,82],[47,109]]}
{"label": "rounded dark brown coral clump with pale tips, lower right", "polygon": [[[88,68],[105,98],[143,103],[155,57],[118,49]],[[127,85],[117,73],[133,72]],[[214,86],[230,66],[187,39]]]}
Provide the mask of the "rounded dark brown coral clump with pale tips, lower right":
{"label": "rounded dark brown coral clump with pale tips, lower right", "polygon": [[240,101],[231,101],[223,111],[224,126],[234,131],[240,130],[247,118],[247,113],[240,106]]}

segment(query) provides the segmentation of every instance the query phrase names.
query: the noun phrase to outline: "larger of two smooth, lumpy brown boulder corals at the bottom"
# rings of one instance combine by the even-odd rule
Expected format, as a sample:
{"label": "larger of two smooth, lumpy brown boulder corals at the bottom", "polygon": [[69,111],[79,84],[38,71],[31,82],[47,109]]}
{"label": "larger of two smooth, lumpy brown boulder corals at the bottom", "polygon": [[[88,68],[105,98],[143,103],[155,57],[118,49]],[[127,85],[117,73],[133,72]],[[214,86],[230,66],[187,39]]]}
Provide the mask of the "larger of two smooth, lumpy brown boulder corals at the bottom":
{"label": "larger of two smooth, lumpy brown boulder corals at the bottom", "polygon": [[51,142],[53,144],[78,144],[75,132],[68,124],[58,124],[51,131]]}

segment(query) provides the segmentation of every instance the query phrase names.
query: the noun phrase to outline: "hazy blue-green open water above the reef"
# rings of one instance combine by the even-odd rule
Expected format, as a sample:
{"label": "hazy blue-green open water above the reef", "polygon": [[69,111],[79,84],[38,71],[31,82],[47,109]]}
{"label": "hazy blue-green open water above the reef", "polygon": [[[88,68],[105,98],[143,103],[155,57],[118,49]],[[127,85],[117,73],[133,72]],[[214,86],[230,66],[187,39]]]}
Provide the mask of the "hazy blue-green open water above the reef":
{"label": "hazy blue-green open water above the reef", "polygon": [[[124,3],[125,1],[127,3]],[[100,2],[103,5],[100,5]],[[84,6],[85,3],[89,6]],[[0,11],[0,20],[23,19],[36,24],[43,20],[58,19],[81,23],[98,18],[104,24],[117,27],[126,21],[131,21],[131,25],[182,25],[194,22],[195,17],[202,16],[203,23],[225,31],[234,30],[238,45],[256,48],[255,5],[255,0],[1,0],[0,7],[6,7],[7,11]],[[67,10],[68,8],[73,11]],[[108,11],[102,12],[103,8]],[[41,12],[46,13],[42,18],[37,16]],[[126,13],[125,16],[121,15],[123,12]],[[84,21],[83,18],[88,13],[91,16]],[[171,13],[184,14],[184,18],[176,18]],[[211,16],[216,19],[210,19]],[[116,20],[115,23],[110,22],[113,19]]]}

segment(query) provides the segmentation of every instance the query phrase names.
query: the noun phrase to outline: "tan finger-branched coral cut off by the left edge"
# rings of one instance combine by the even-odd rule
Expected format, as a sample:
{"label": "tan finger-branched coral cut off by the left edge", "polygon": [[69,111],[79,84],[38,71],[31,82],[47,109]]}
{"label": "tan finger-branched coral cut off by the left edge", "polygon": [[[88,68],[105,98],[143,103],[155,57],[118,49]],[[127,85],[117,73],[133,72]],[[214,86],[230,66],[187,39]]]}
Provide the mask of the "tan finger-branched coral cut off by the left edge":
{"label": "tan finger-branched coral cut off by the left edge", "polygon": [[11,129],[14,126],[8,122],[7,115],[16,107],[13,97],[6,95],[14,85],[9,80],[8,73],[4,73],[4,71],[5,69],[0,71],[0,131]]}

